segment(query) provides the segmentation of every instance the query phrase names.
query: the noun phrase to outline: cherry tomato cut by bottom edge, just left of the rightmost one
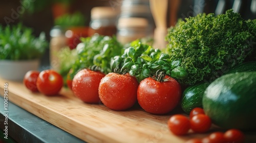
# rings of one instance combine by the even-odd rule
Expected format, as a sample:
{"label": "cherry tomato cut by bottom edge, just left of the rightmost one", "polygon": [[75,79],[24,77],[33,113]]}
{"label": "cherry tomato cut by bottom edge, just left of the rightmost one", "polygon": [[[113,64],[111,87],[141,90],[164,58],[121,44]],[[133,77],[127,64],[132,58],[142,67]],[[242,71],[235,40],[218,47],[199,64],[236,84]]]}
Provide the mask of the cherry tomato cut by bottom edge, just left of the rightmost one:
{"label": "cherry tomato cut by bottom edge, just left of the rightmost one", "polygon": [[224,143],[224,133],[222,132],[214,132],[211,133],[208,137],[204,138],[202,140],[203,143]]}

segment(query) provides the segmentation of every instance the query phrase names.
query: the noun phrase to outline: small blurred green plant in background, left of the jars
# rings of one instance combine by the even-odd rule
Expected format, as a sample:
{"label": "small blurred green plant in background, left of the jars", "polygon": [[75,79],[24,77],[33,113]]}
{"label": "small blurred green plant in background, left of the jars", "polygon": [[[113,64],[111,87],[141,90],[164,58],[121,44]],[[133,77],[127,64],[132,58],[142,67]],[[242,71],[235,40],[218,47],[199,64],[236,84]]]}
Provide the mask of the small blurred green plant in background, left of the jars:
{"label": "small blurred green plant in background, left of the jars", "polygon": [[61,27],[80,27],[86,24],[86,17],[81,12],[64,14],[54,20],[55,26]]}

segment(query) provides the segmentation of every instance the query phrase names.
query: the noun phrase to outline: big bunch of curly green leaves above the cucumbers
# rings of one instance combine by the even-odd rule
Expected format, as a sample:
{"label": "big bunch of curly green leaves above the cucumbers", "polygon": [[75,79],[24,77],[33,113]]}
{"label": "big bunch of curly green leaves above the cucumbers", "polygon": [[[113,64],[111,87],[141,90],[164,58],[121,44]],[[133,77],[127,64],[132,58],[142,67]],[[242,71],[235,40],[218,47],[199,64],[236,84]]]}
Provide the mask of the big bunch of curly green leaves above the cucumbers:
{"label": "big bunch of curly green leaves above the cucumbers", "polygon": [[217,16],[202,13],[180,19],[168,29],[166,40],[165,52],[171,60],[180,59],[188,74],[178,81],[194,85],[215,80],[249,57],[255,59],[256,20],[245,20],[233,10]]}

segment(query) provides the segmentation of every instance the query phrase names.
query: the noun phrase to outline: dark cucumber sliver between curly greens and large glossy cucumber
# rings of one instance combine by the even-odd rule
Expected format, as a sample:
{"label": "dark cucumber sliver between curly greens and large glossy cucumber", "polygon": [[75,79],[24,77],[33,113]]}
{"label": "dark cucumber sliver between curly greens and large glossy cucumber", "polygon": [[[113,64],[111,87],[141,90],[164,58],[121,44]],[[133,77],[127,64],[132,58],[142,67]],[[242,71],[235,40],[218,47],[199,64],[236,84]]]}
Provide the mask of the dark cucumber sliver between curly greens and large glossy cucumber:
{"label": "dark cucumber sliver between curly greens and large glossy cucumber", "polygon": [[256,61],[250,61],[238,64],[232,68],[230,68],[226,74],[236,73],[236,72],[243,72],[243,71],[256,71]]}

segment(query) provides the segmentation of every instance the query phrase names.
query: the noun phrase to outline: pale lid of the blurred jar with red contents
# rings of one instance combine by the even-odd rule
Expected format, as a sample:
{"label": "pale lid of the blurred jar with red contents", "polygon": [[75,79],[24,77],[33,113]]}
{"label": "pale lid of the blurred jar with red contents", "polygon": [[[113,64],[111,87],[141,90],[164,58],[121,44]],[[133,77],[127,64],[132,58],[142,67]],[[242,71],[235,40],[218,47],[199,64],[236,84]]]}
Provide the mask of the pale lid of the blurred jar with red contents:
{"label": "pale lid of the blurred jar with red contents", "polygon": [[113,9],[112,7],[94,7],[91,10],[91,18],[100,19],[100,18],[116,17],[118,13],[119,13],[119,10]]}

